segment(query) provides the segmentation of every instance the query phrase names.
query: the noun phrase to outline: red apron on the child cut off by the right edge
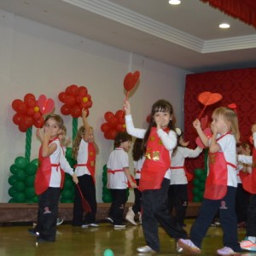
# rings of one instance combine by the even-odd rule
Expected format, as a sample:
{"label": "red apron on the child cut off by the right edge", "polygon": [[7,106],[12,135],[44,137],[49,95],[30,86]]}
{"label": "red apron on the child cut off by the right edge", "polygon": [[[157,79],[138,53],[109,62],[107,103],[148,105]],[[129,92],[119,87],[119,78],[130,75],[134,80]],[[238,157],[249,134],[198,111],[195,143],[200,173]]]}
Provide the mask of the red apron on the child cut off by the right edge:
{"label": "red apron on the child cut off by the right edge", "polygon": [[253,147],[252,173],[239,172],[243,189],[251,194],[256,194],[256,149]]}

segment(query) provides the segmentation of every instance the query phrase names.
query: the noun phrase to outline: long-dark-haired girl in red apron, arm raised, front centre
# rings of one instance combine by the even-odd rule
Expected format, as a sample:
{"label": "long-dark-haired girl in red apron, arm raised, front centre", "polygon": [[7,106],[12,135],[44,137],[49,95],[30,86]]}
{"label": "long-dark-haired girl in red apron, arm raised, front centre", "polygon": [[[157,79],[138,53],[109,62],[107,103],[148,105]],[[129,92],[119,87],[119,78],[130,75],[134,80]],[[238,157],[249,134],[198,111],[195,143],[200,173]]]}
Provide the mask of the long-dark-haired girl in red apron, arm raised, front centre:
{"label": "long-dark-haired girl in red apron, arm raised, front centre", "polygon": [[187,237],[186,231],[170,215],[166,204],[170,185],[171,154],[177,144],[173,108],[170,102],[165,100],[155,102],[147,131],[134,127],[128,101],[125,101],[124,109],[126,129],[132,136],[143,138],[145,154],[139,189],[143,193],[142,221],[147,245],[138,247],[137,252],[159,252],[158,222],[167,234],[176,240]]}

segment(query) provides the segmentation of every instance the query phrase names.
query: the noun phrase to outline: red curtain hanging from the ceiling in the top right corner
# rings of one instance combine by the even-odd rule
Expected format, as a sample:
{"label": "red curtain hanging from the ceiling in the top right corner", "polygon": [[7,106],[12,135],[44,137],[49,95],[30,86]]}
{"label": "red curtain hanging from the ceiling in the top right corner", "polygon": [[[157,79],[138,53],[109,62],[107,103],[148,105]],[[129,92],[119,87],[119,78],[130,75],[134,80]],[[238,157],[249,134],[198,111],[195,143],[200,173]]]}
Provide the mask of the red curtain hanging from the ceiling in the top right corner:
{"label": "red curtain hanging from the ceiling in the top right corner", "polygon": [[201,0],[218,8],[225,14],[238,18],[245,23],[256,27],[255,0]]}

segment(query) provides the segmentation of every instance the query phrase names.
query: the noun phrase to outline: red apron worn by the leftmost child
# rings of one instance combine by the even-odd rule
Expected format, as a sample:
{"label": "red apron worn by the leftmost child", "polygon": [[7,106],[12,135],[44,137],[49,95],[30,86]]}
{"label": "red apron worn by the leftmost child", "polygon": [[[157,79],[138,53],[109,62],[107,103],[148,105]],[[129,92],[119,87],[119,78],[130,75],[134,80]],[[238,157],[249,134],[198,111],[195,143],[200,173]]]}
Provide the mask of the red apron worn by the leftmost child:
{"label": "red apron worn by the leftmost child", "polygon": [[[57,138],[58,139],[58,138]],[[49,141],[52,143],[54,140]],[[37,195],[44,193],[46,189],[49,188],[49,180],[51,175],[51,167],[58,168],[60,164],[51,164],[49,156],[42,156],[42,146],[39,149],[38,155],[38,171],[35,177],[35,191]],[[64,184],[64,175],[62,175],[63,170],[61,170],[61,189]]]}

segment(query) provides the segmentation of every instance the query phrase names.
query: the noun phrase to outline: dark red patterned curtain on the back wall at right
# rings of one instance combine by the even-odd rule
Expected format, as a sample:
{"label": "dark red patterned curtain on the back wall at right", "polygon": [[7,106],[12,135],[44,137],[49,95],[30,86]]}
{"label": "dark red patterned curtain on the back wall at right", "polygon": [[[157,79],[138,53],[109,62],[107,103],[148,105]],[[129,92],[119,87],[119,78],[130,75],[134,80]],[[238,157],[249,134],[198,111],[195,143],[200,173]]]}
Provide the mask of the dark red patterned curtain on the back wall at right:
{"label": "dark red patterned curtain on the back wall at right", "polygon": [[[256,123],[256,68],[228,70],[190,74],[186,77],[184,94],[184,136],[189,141],[189,147],[195,148],[196,131],[192,125],[203,105],[197,96],[203,91],[220,93],[223,99],[206,108],[203,117],[208,116],[211,122],[212,111],[230,103],[236,103],[241,132],[241,142],[248,141],[251,136],[251,126]],[[195,168],[204,169],[204,154],[197,159],[186,160],[189,172]],[[191,195],[189,196],[191,201]]]}

